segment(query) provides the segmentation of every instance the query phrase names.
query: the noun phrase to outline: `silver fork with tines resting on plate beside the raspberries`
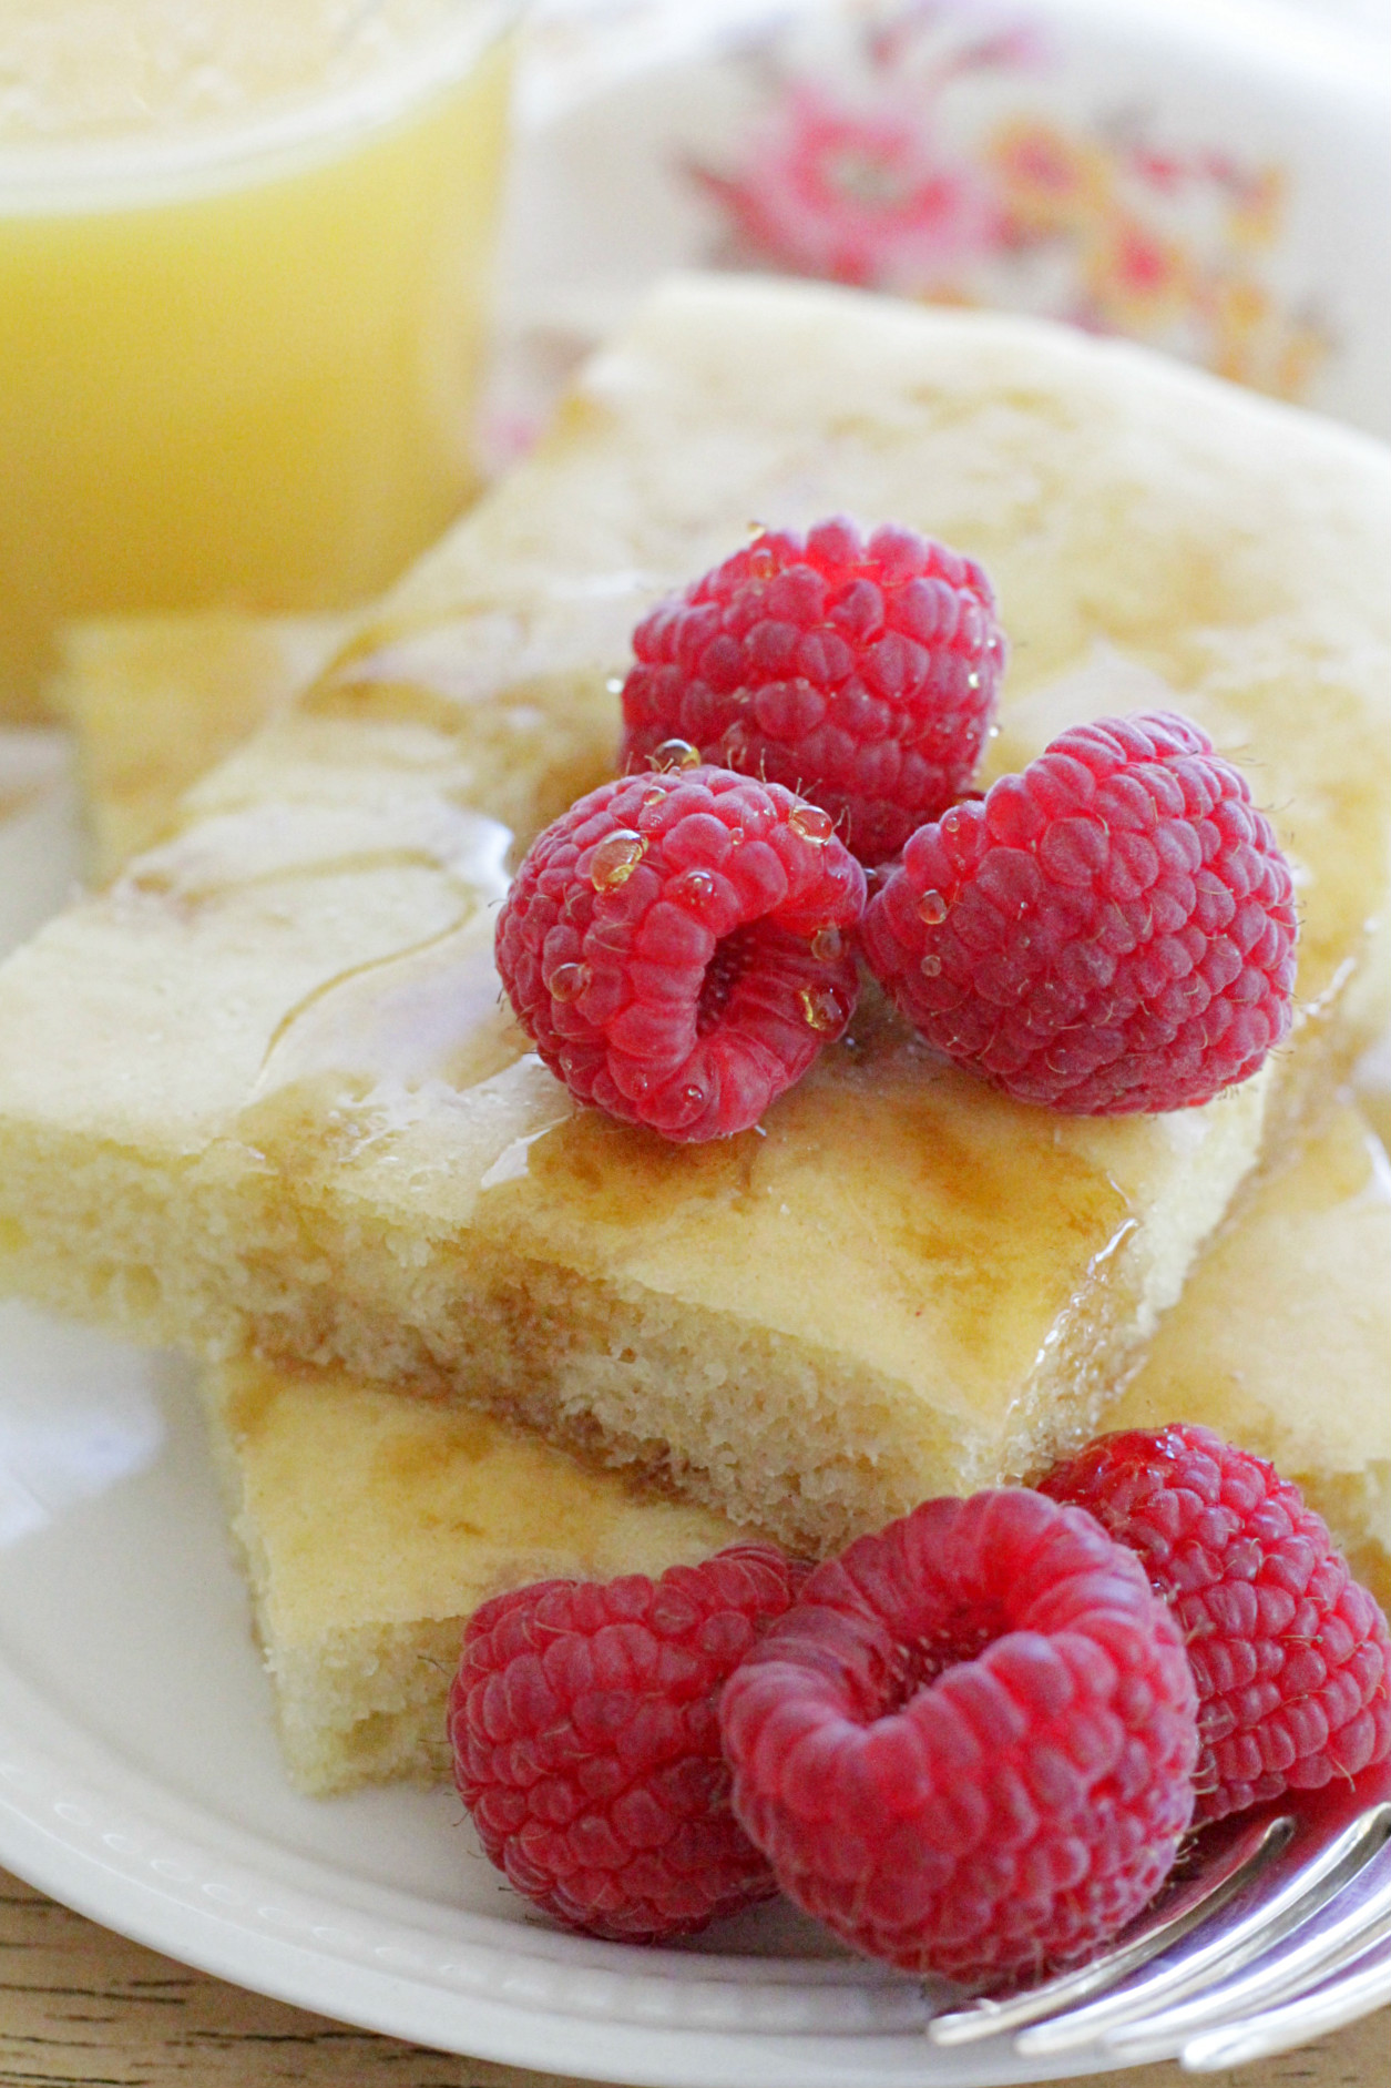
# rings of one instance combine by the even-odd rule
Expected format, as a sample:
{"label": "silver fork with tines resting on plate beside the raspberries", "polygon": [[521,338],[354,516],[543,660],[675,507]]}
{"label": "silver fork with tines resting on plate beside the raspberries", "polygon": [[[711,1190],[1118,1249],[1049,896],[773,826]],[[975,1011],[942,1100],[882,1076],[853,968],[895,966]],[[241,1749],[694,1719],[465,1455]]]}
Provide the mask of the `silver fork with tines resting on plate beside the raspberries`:
{"label": "silver fork with tines resting on plate beside the raspberries", "polygon": [[1101,1959],[927,2023],[1021,2057],[1178,2057],[1195,2073],[1284,2053],[1391,2000],[1391,1762],[1195,1835]]}

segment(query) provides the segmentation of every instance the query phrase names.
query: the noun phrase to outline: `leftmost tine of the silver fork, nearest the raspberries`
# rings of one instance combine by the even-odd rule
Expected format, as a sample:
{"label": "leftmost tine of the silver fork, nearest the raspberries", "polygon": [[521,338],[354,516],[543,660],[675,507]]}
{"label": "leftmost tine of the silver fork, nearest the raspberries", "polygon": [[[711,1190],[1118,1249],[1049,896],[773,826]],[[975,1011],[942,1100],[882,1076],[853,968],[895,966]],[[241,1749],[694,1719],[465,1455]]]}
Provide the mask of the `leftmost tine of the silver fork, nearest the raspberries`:
{"label": "leftmost tine of the silver fork, nearest the raspberries", "polygon": [[1032,1986],[1025,1992],[992,2000],[984,1994],[969,2009],[952,2009],[948,2015],[934,2015],[927,2036],[934,2044],[975,2044],[980,2038],[994,2038],[1011,2030],[1023,2030],[1042,2015],[1057,2015],[1074,2002],[1086,2000],[1119,1979],[1138,1971],[1161,1950],[1168,1950],[1199,1921],[1205,1921],[1224,1906],[1241,1885],[1278,1854],[1291,1840],[1295,1823],[1289,1817],[1247,1823],[1232,1835],[1216,1862],[1205,1862],[1178,1888],[1165,1892],[1140,1923],[1130,1923],[1117,1938],[1115,1948],[1092,1959],[1076,1971],[1059,1973]]}

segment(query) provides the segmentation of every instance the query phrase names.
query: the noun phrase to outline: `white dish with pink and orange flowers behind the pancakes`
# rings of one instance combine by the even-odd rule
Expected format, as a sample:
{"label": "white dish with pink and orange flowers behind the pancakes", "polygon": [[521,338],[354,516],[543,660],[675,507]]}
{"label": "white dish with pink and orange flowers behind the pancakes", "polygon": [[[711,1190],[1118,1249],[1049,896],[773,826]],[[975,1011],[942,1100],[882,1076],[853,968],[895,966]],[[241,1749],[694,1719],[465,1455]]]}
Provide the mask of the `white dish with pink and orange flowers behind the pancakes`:
{"label": "white dish with pink and orange flowers behind the pancakes", "polygon": [[489,453],[664,267],[1040,313],[1391,434],[1381,61],[1291,0],[560,8]]}

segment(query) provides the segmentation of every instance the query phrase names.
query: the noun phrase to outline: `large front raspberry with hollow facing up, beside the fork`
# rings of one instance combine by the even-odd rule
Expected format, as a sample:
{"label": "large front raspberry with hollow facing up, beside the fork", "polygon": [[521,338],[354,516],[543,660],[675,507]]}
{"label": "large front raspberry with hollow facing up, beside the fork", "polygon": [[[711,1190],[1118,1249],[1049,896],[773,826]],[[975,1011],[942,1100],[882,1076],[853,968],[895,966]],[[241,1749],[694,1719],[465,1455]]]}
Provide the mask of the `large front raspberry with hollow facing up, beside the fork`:
{"label": "large front raspberry with hollow facing up, beside the fork", "polygon": [[1174,1618],[1090,1516],[1019,1487],[925,1501],[819,1566],[721,1725],[783,1892],[917,1973],[1088,1954],[1193,1812]]}

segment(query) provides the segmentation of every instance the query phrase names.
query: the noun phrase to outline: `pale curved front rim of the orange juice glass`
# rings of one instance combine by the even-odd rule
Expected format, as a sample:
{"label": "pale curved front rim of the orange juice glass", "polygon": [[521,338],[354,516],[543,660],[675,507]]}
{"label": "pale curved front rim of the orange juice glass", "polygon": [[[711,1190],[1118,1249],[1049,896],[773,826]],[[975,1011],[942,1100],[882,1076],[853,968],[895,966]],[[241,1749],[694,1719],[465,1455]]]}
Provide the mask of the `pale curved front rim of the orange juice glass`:
{"label": "pale curved front rim of the orange juice glass", "polygon": [[332,161],[445,94],[514,27],[526,0],[457,0],[455,19],[378,73],[303,90],[272,115],[186,132],[0,140],[0,219],[182,203]]}

